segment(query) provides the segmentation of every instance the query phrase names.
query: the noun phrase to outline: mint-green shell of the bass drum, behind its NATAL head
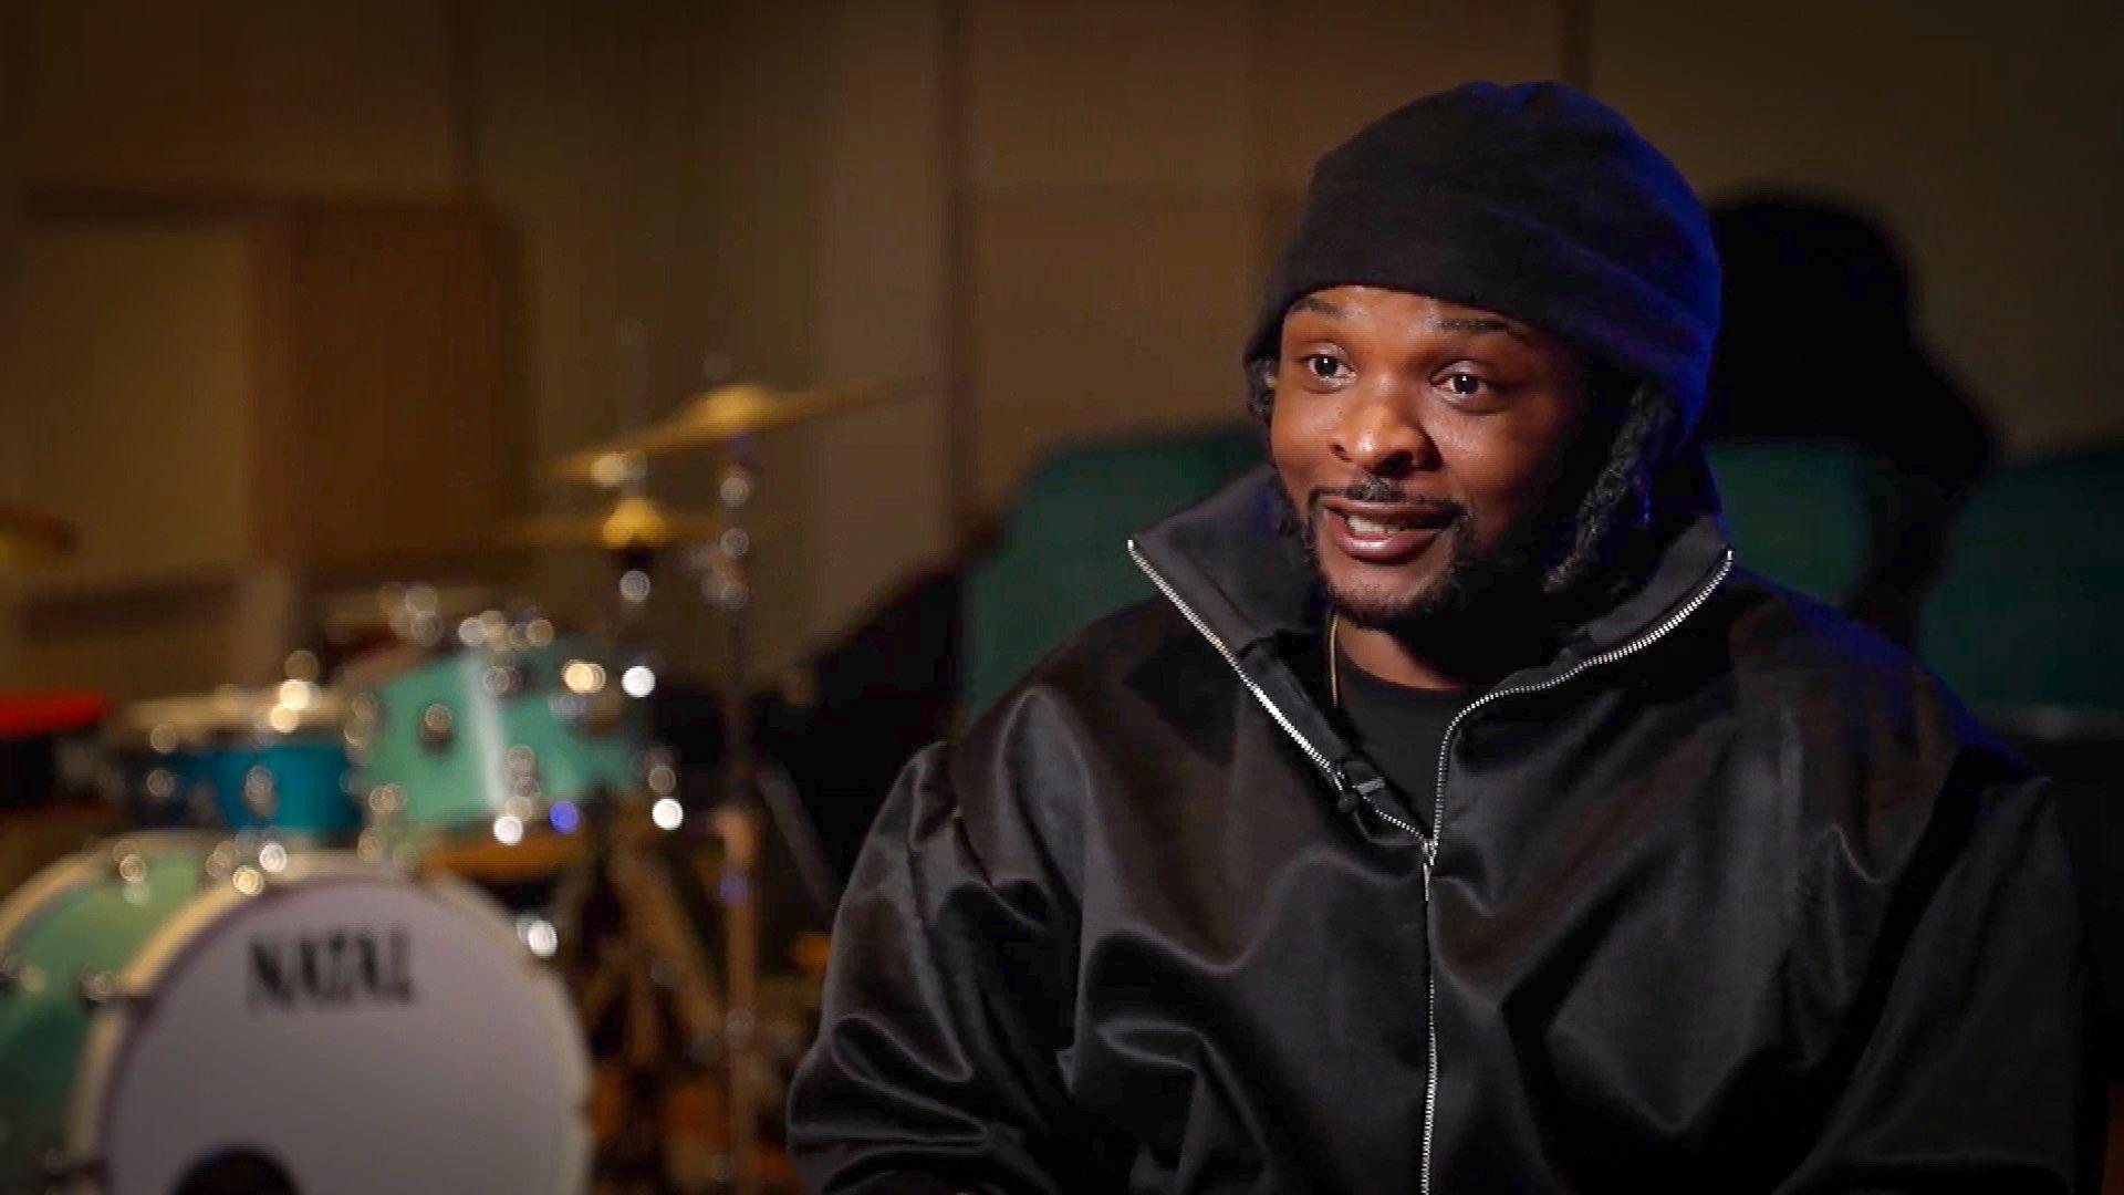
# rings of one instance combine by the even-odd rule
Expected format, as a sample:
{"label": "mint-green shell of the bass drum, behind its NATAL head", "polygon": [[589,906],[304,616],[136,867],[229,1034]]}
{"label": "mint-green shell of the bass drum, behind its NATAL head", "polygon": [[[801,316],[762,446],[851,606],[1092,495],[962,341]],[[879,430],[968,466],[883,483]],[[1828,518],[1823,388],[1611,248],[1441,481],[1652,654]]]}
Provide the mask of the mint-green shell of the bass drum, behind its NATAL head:
{"label": "mint-green shell of the bass drum, behind its NATAL head", "polygon": [[204,878],[212,840],[138,834],[38,872],[0,904],[0,1191],[45,1191],[64,1150],[96,1008],[85,976],[117,974]]}

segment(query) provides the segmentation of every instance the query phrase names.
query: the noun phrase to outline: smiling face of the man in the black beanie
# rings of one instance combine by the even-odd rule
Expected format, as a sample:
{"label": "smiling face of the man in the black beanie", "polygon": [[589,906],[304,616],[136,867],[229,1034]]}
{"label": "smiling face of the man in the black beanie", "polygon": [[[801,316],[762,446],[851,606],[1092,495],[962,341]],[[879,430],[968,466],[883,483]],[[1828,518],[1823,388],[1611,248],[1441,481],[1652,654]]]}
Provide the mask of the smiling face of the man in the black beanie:
{"label": "smiling face of the man in the black beanie", "polygon": [[1519,568],[1587,404],[1580,355],[1514,319],[1381,287],[1298,300],[1268,444],[1344,617],[1404,623]]}

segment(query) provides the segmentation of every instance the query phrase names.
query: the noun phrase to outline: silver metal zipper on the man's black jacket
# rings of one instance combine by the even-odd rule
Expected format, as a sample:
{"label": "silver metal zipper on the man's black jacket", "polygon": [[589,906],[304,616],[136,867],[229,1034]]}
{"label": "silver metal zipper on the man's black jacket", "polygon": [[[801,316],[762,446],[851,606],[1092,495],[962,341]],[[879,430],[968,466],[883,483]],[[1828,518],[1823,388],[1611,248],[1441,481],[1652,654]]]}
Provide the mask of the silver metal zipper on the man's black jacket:
{"label": "silver metal zipper on the man's black jacket", "polygon": [[[1421,829],[1408,825],[1408,821],[1404,821],[1404,819],[1395,817],[1393,812],[1381,808],[1378,802],[1374,802],[1370,793],[1357,791],[1349,782],[1349,776],[1342,774],[1340,768],[1336,768],[1334,763],[1330,763],[1328,757],[1321,755],[1321,751],[1317,746],[1313,746],[1313,742],[1306,736],[1298,734],[1298,727],[1291,725],[1291,719],[1287,719],[1283,714],[1283,710],[1279,710],[1277,704],[1268,697],[1268,693],[1264,693],[1262,687],[1255,685],[1251,676],[1247,676],[1247,670],[1238,666],[1238,657],[1232,653],[1232,649],[1228,649],[1223,644],[1223,640],[1217,638],[1217,634],[1209,629],[1209,623],[1204,623],[1202,617],[1196,615],[1192,606],[1187,606],[1187,602],[1181,602],[1181,595],[1172,589],[1172,585],[1164,576],[1160,576],[1160,572],[1155,568],[1151,568],[1151,561],[1143,559],[1143,553],[1136,551],[1136,540],[1128,540],[1128,555],[1130,555],[1130,559],[1136,561],[1136,568],[1143,570],[1143,576],[1149,576],[1151,585],[1155,585],[1158,591],[1166,595],[1166,602],[1172,602],[1172,606],[1181,612],[1181,617],[1187,619],[1187,623],[1192,623],[1194,629],[1204,640],[1209,640],[1209,644],[1213,649],[1217,649],[1217,655],[1221,655],[1223,661],[1232,666],[1232,672],[1238,674],[1238,683],[1245,685],[1249,693],[1253,693],[1253,700],[1260,702],[1264,710],[1268,710],[1268,717],[1274,719],[1274,723],[1279,727],[1283,727],[1283,734],[1291,736],[1291,742],[1296,742],[1298,748],[1306,753],[1306,759],[1311,759],[1313,765],[1321,770],[1321,774],[1328,778],[1328,782],[1334,787],[1336,793],[1340,793],[1344,797],[1357,797],[1357,800],[1361,800],[1364,806],[1370,808],[1376,817],[1381,817],[1389,825],[1400,827],[1404,834],[1410,834],[1410,836],[1417,838],[1417,848],[1423,851],[1423,906],[1425,908],[1429,908],[1429,904],[1432,904],[1432,868],[1438,863],[1438,838],[1444,834],[1444,817],[1446,817],[1446,761],[1453,755],[1453,736],[1459,734],[1459,727],[1461,727],[1461,723],[1468,721],[1468,714],[1472,714],[1472,712],[1480,710],[1483,706],[1487,706],[1491,702],[1497,702],[1502,697],[1523,697],[1527,693],[1546,693],[1548,689],[1555,689],[1557,685],[1565,685],[1572,678],[1576,678],[1576,676],[1580,676],[1580,674],[1585,674],[1585,672],[1589,672],[1593,668],[1604,668],[1608,663],[1614,663],[1618,659],[1631,657],[1631,655],[1635,655],[1635,653],[1652,646],[1655,642],[1659,642],[1659,640],[1667,638],[1669,634],[1674,634],[1674,627],[1682,625],[1682,621],[1689,619],[1689,615],[1695,615],[1706,602],[1710,602],[1710,598],[1718,589],[1718,585],[1723,585],[1725,578],[1727,578],[1727,574],[1733,572],[1733,549],[1727,549],[1725,557],[1718,561],[1718,570],[1712,572],[1710,580],[1706,580],[1701,587],[1697,587],[1697,591],[1691,593],[1689,600],[1682,602],[1682,606],[1678,610],[1674,610],[1672,615],[1667,615],[1657,627],[1652,627],[1652,629],[1644,632],[1642,636],[1625,642],[1623,646],[1608,649],[1608,651],[1604,651],[1599,655],[1589,655],[1587,659],[1580,659],[1578,663],[1574,663],[1572,668],[1559,672],[1557,676],[1551,676],[1548,680],[1540,680],[1536,685],[1514,685],[1512,689],[1491,689],[1489,693],[1483,693],[1474,702],[1468,702],[1466,706],[1461,706],[1461,710],[1457,714],[1453,714],[1453,721],[1446,723],[1444,740],[1438,744],[1438,787],[1434,789],[1434,795],[1432,795],[1432,834],[1425,836]],[[1429,953],[1429,942],[1427,940],[1425,940],[1425,953]],[[1425,1078],[1423,1078],[1423,1165],[1421,1165],[1421,1172],[1417,1174],[1417,1184],[1419,1184],[1419,1195],[1432,1195],[1432,1133],[1438,1127],[1438,967],[1436,965],[1425,965],[1423,967],[1423,976],[1425,976],[1423,1029],[1425,1029],[1425,1036],[1427,1036],[1425,1070],[1429,1074],[1425,1074]]]}

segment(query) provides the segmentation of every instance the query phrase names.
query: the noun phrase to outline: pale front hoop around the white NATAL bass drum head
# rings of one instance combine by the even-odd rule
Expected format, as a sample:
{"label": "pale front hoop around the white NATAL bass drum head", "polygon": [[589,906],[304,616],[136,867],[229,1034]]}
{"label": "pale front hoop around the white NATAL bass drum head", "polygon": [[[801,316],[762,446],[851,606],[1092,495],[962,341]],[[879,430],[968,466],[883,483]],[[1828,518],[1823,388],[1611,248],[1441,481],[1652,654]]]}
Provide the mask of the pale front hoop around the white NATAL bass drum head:
{"label": "pale front hoop around the white NATAL bass drum head", "polygon": [[[96,874],[96,857],[83,859],[89,876]],[[272,899],[274,889],[319,885],[319,882],[361,882],[382,880],[418,887],[431,899],[450,906],[465,923],[480,927],[506,950],[525,959],[525,980],[537,991],[537,1014],[546,1021],[544,1042],[559,1067],[565,1067],[567,1104],[588,1110],[590,1059],[576,1029],[573,1012],[561,980],[546,972],[510,929],[508,921],[493,908],[493,902],[467,880],[446,874],[408,876],[384,863],[370,863],[357,855],[321,851],[291,853],[287,870],[266,878],[266,889],[257,895],[236,891],[227,880],[212,880],[185,904],[176,916],[155,929],[130,963],[117,976],[117,991],[125,993],[113,1004],[98,1008],[89,1019],[89,1031],[76,1063],[72,1101],[68,1106],[66,1150],[74,1163],[74,1184],[79,1195],[102,1195],[104,1121],[110,1101],[117,1097],[117,1076],[123,1070],[127,1046],[134,1040],[138,1016],[127,1008],[127,995],[153,993],[155,984],[172,967],[181,965],[193,946],[204,944],[210,927],[246,902]],[[0,925],[4,929],[4,925]],[[0,938],[4,942],[4,938]],[[561,1165],[554,1167],[552,1195],[569,1195],[588,1186],[590,1172],[590,1129],[586,1116],[578,1116],[571,1131],[559,1142]]]}

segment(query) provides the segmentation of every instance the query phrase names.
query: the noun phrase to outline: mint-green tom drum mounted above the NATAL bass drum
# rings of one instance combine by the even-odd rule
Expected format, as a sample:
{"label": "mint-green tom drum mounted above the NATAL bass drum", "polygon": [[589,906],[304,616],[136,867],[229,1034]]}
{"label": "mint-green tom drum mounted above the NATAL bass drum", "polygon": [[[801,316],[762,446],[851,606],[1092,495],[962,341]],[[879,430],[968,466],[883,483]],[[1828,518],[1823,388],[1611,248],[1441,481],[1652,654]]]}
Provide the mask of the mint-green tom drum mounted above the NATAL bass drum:
{"label": "mint-green tom drum mounted above the NATAL bass drum", "polygon": [[648,712],[588,640],[459,651],[370,697],[355,706],[361,787],[414,829],[569,831],[586,804],[641,787]]}

